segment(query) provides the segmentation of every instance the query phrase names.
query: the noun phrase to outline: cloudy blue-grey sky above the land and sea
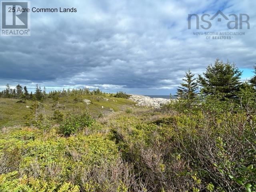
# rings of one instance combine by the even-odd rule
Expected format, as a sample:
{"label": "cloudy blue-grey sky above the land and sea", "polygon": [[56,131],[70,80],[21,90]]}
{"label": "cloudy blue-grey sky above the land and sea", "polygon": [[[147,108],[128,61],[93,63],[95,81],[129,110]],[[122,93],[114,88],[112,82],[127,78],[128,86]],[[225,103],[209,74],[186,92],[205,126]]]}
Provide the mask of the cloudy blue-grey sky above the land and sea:
{"label": "cloudy blue-grey sky above the land and sea", "polygon": [[[168,95],[185,71],[202,74],[216,58],[235,63],[242,80],[256,65],[256,1],[252,0],[34,0],[31,8],[76,8],[76,13],[31,13],[31,36],[0,36],[0,89],[9,83],[46,90],[100,88],[104,92]],[[248,14],[250,29],[188,29],[188,14],[221,10]],[[207,18],[207,17],[206,17]],[[218,22],[217,18],[222,18]],[[207,26],[206,23],[204,26]],[[193,32],[244,32],[206,39]]]}

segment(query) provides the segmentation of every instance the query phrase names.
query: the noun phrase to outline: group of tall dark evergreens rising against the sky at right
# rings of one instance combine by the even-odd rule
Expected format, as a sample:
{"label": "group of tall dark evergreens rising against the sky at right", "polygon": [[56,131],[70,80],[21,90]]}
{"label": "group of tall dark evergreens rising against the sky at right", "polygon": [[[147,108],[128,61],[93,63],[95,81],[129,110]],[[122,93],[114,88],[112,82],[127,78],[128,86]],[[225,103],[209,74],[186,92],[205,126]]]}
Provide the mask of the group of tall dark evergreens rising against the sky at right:
{"label": "group of tall dark evergreens rising against the sky at right", "polygon": [[256,66],[254,76],[249,81],[241,82],[241,75],[242,71],[235,64],[217,58],[214,64],[210,64],[206,72],[197,78],[188,70],[177,89],[176,96],[188,103],[193,102],[198,94],[216,96],[220,100],[237,99],[243,90],[254,92],[256,89]]}

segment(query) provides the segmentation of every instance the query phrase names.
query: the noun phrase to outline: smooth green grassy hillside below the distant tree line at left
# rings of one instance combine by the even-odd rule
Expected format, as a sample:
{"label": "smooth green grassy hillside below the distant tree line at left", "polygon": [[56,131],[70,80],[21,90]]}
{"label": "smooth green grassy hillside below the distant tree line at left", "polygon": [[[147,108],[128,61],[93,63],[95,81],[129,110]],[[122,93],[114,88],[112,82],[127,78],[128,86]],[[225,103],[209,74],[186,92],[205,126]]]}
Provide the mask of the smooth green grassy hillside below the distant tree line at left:
{"label": "smooth green grassy hillside below the distant tree line at left", "polygon": [[[41,102],[38,108],[38,114],[46,114],[47,116],[52,116],[54,110],[60,110],[63,113],[69,111],[84,111],[88,110],[92,116],[98,117],[100,115],[106,115],[118,111],[124,111],[127,108],[134,108],[135,103],[131,100],[123,98],[114,98],[108,95],[106,96],[78,96],[78,102],[75,101],[76,96],[66,96],[61,97],[57,101],[52,98],[48,98]],[[87,105],[83,102],[84,99],[90,100],[92,103]],[[107,101],[108,100],[108,101]],[[24,116],[29,114],[31,109],[26,106],[31,107],[34,102],[26,100],[25,103],[17,103],[19,99],[8,99],[0,98],[0,128],[24,125]],[[103,106],[103,108],[102,108]]]}

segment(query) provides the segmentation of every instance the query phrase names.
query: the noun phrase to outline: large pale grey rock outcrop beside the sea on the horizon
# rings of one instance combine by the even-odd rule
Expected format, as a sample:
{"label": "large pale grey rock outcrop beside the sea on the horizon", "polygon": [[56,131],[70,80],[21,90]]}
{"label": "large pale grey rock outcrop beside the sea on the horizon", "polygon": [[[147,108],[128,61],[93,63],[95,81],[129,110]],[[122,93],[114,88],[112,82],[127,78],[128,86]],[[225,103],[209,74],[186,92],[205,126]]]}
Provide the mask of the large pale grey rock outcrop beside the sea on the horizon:
{"label": "large pale grey rock outcrop beside the sea on the horizon", "polygon": [[153,108],[160,108],[163,104],[170,103],[173,99],[164,99],[164,98],[150,98],[143,95],[131,95],[130,100],[136,102],[138,106],[148,106]]}

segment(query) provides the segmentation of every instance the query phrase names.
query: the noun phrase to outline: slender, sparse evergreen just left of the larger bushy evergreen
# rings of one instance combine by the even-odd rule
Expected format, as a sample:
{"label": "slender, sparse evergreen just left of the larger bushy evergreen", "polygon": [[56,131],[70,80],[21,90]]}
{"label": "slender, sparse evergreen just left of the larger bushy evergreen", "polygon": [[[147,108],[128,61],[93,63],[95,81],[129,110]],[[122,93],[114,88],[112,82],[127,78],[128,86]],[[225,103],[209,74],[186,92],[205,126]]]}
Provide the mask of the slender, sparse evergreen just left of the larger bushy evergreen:
{"label": "slender, sparse evergreen just left of the larger bushy evergreen", "polygon": [[186,72],[186,75],[182,79],[184,83],[181,83],[182,87],[178,87],[177,95],[179,98],[192,100],[196,97],[196,91],[198,90],[198,84],[194,74],[190,70]]}

